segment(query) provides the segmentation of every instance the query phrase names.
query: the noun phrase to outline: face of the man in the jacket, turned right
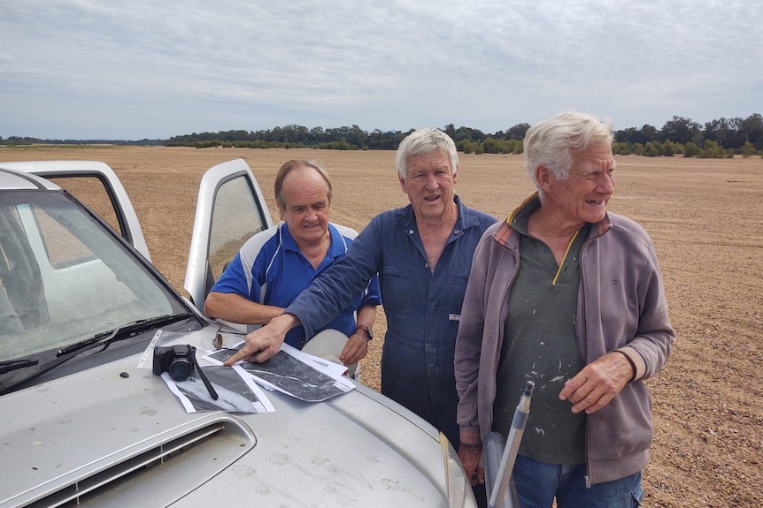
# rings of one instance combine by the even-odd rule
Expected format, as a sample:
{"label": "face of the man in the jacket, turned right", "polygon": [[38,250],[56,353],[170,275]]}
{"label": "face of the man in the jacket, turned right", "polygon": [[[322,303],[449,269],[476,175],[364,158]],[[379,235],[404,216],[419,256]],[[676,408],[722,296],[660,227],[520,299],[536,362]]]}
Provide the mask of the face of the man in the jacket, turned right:
{"label": "face of the man in the jacket, turned right", "polygon": [[559,212],[565,222],[595,224],[604,219],[614,193],[614,157],[607,143],[594,143],[574,157],[569,178],[549,178],[543,204]]}

